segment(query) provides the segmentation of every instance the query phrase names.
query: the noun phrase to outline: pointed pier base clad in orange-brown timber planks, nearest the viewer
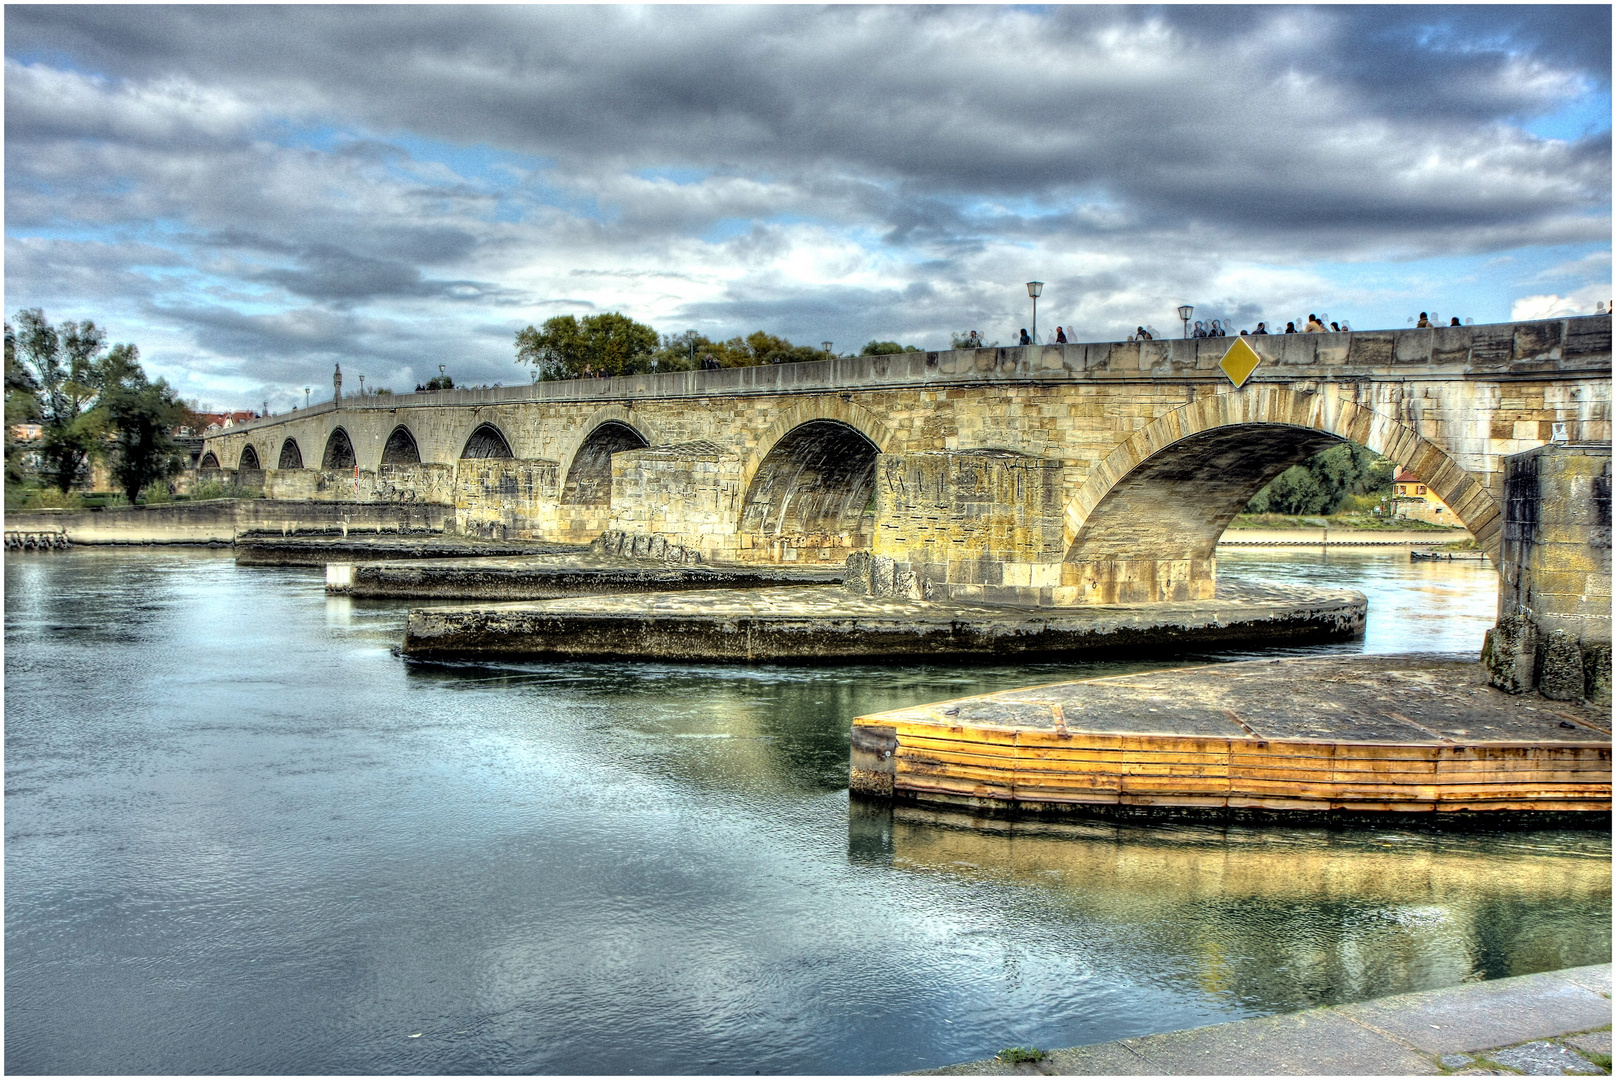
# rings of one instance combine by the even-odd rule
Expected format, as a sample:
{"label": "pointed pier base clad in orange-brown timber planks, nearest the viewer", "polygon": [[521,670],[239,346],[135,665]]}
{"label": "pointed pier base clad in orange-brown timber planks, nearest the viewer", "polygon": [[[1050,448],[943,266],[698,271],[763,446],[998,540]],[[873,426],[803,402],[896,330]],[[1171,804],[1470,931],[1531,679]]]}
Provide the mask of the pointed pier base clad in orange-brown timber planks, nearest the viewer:
{"label": "pointed pier base clad in orange-brown timber planks, nearest the viewer", "polygon": [[1608,815],[1610,710],[1440,656],[1257,660],[853,721],[855,792],[1167,816]]}

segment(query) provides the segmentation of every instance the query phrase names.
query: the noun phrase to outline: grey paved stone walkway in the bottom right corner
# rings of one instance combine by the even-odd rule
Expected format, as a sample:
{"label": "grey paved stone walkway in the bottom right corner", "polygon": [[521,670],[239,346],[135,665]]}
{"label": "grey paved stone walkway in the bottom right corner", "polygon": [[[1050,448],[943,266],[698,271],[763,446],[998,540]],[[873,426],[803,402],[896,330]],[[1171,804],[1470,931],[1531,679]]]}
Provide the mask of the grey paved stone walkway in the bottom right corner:
{"label": "grey paved stone walkway in the bottom right corner", "polygon": [[918,1075],[1603,1075],[1610,1025],[1597,964]]}

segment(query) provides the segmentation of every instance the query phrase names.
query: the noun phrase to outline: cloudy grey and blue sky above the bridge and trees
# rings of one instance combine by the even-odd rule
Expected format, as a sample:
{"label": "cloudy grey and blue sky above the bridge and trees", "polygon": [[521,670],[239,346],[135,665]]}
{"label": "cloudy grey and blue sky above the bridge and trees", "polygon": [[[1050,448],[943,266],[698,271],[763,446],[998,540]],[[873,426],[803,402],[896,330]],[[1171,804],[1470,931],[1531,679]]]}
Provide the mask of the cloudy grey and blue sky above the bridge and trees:
{"label": "cloudy grey and blue sky above the bridge and trees", "polygon": [[5,8],[6,312],[204,406],[522,327],[949,348],[1611,297],[1611,8]]}

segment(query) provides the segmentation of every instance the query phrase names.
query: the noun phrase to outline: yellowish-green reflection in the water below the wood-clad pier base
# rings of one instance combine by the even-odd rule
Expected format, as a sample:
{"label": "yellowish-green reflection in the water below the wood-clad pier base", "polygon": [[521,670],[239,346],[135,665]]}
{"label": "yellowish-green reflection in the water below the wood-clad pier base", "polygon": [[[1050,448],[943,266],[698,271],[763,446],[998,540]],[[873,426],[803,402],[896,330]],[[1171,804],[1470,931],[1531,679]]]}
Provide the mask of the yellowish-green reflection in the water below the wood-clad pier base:
{"label": "yellowish-green reflection in the water below the wood-clad pier base", "polygon": [[1007,821],[855,800],[848,859],[1036,889],[1133,970],[1293,1010],[1603,964],[1610,834]]}

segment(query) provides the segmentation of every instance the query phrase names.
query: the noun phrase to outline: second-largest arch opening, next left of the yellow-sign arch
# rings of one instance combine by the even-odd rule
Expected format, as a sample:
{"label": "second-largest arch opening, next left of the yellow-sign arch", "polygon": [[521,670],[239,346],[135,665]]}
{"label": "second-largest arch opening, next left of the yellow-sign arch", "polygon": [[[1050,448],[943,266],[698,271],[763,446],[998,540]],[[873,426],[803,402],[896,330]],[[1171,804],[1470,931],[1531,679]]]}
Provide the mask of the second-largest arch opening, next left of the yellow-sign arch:
{"label": "second-largest arch opening, next left of the yellow-sign arch", "polygon": [[776,545],[777,558],[845,558],[868,548],[881,448],[852,424],[813,419],[790,428],[758,462],[740,532]]}

